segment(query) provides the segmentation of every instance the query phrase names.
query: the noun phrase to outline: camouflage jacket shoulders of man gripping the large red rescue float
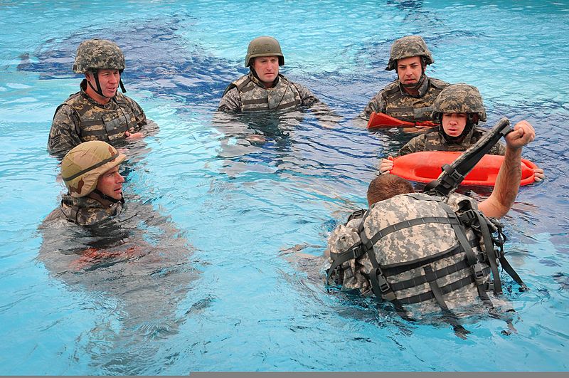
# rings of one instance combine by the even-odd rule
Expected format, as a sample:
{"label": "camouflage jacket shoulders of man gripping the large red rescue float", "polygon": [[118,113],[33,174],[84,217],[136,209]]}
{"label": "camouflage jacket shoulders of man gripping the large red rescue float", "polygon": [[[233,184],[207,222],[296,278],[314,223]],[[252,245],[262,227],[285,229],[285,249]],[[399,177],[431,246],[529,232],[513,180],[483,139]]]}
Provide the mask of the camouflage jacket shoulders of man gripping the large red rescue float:
{"label": "camouflage jacket shoulders of man gripping the large red rescue float", "polygon": [[[406,145],[401,147],[395,156],[402,156],[420,151],[466,151],[470,146],[478,142],[485,132],[485,130],[473,127],[472,130],[470,130],[469,135],[464,137],[464,140],[462,140],[461,143],[453,143],[447,142],[442,136],[442,132],[437,128],[436,130],[432,130],[426,134],[414,137]],[[506,154],[506,147],[501,145],[501,143],[496,143],[488,153],[493,155],[504,155]]]}

